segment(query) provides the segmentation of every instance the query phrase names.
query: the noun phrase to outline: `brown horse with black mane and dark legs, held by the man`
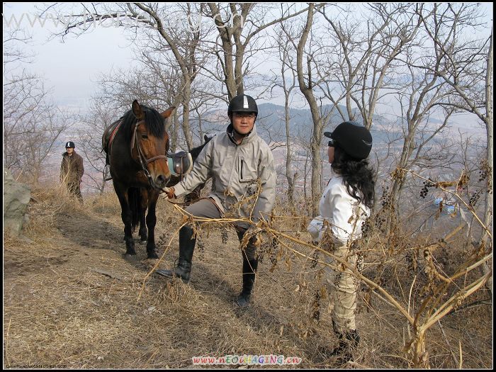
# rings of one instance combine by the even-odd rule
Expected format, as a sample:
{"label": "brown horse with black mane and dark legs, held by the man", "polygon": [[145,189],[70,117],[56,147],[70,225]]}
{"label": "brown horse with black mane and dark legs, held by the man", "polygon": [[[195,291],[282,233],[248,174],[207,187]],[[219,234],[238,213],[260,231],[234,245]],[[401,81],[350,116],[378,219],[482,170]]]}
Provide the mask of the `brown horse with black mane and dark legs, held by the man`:
{"label": "brown horse with black mane and dark legs, held by the man", "polygon": [[169,135],[164,119],[173,110],[171,107],[161,114],[135,100],[132,109],[103,133],[103,150],[107,153],[113,188],[122,209],[126,259],[134,259],[136,255],[133,230],[138,223],[141,240],[147,241],[147,257],[158,258],[154,236],[155,207],[160,191],[171,176],[166,155]]}

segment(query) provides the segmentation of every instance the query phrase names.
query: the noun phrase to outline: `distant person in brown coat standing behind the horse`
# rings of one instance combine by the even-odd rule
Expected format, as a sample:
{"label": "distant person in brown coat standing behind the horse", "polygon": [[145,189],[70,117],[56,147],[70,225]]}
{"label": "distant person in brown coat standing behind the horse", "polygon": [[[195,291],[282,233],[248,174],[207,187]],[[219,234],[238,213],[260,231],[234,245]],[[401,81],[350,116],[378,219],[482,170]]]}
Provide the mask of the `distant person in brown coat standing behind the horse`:
{"label": "distant person in brown coat standing behind the horse", "polygon": [[72,141],[65,144],[65,152],[62,154],[62,164],[60,164],[60,182],[65,184],[69,193],[77,196],[82,204],[81,178],[84,174],[84,165],[83,158],[74,151],[75,147]]}

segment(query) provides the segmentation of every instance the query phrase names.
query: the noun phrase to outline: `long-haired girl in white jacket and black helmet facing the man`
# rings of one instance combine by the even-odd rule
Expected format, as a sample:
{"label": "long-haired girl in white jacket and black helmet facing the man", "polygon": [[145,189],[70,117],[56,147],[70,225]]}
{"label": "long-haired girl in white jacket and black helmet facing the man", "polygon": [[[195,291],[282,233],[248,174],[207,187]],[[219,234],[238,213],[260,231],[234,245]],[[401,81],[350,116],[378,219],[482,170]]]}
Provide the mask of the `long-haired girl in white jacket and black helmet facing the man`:
{"label": "long-haired girl in white jacket and black helmet facing the man", "polygon": [[[330,139],[327,153],[333,176],[320,198],[320,215],[310,222],[308,231],[314,242],[327,235],[323,248],[355,269],[354,243],[361,237],[362,224],[370,215],[375,198],[374,172],[367,160],[372,136],[354,121],[341,123],[334,132],[324,135]],[[334,349],[325,347],[324,351],[345,363],[352,360],[351,352],[360,341],[355,325],[356,279],[350,269],[330,257],[326,259],[337,266],[335,270],[326,266],[326,280],[334,302],[332,327],[339,345]]]}

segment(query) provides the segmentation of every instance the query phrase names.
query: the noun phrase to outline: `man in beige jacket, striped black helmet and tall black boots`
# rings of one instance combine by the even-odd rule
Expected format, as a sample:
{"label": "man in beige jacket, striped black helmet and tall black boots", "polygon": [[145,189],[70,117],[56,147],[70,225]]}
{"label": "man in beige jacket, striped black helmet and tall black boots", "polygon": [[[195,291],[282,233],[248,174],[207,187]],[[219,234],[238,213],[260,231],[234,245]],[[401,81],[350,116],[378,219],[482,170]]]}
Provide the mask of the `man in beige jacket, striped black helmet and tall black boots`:
{"label": "man in beige jacket, striped black helmet and tall black boots", "polygon": [[[167,196],[174,198],[193,191],[196,186],[213,178],[212,193],[186,208],[186,212],[197,217],[250,218],[257,223],[270,215],[275,201],[276,170],[274,157],[269,146],[257,134],[255,120],[258,115],[257,103],[251,96],[239,94],[232,98],[227,108],[230,125],[225,133],[216,135],[196,159],[193,170],[186,178],[171,187]],[[261,190],[258,190],[258,184]],[[258,198],[247,198],[259,192]],[[246,203],[248,201],[248,203]],[[253,204],[254,205],[250,205]],[[248,223],[238,222],[235,226],[239,242],[249,229]],[[173,270],[157,270],[157,274],[180,277],[189,281],[191,259],[196,238],[193,228],[186,225],[179,231],[179,262]],[[252,237],[242,250],[243,269],[242,291],[237,304],[249,305],[250,295],[257,272],[258,259]]]}

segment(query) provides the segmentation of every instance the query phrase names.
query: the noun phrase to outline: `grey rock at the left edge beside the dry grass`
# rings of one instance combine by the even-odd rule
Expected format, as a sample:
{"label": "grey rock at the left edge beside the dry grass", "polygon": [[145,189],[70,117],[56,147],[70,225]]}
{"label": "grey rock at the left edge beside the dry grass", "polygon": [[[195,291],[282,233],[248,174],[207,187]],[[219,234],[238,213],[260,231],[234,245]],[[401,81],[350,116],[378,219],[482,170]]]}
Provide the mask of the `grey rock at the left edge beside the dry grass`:
{"label": "grey rock at the left edge beside the dry grass", "polygon": [[4,167],[4,229],[9,229],[14,236],[21,235],[28,220],[26,212],[30,197],[30,186],[14,180],[9,169]]}

